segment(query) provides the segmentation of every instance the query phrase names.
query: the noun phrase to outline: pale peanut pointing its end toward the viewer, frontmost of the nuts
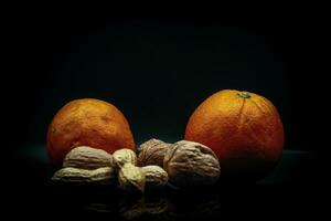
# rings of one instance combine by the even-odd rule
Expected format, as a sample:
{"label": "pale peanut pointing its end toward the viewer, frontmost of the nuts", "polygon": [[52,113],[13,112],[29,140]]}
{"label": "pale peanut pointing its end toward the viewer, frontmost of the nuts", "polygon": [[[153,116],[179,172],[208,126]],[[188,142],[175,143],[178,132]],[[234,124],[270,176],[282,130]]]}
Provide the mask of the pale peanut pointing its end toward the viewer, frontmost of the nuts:
{"label": "pale peanut pointing its end toward the viewer, frontmost of the nuts", "polygon": [[145,173],[139,167],[125,164],[118,172],[119,187],[124,190],[145,191]]}

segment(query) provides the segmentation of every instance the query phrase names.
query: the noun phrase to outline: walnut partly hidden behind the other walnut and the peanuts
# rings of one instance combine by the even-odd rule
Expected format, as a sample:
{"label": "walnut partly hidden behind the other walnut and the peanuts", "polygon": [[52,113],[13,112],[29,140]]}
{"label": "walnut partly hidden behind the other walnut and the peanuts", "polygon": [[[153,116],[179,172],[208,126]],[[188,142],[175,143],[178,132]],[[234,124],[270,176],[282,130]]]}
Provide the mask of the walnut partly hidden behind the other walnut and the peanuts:
{"label": "walnut partly hidden behind the other walnut and the peanuts", "polygon": [[157,165],[163,167],[163,158],[168,148],[173,145],[159,139],[149,139],[138,148],[138,166]]}

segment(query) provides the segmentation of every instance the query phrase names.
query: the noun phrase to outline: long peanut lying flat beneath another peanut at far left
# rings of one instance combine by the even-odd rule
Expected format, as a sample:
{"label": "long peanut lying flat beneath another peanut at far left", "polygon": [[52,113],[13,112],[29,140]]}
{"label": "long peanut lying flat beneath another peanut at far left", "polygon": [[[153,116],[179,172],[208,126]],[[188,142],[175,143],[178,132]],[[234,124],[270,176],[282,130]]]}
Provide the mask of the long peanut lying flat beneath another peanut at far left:
{"label": "long peanut lying flat beneath another peanut at far left", "polygon": [[64,182],[98,182],[114,178],[111,167],[103,167],[95,170],[66,167],[57,170],[52,180]]}

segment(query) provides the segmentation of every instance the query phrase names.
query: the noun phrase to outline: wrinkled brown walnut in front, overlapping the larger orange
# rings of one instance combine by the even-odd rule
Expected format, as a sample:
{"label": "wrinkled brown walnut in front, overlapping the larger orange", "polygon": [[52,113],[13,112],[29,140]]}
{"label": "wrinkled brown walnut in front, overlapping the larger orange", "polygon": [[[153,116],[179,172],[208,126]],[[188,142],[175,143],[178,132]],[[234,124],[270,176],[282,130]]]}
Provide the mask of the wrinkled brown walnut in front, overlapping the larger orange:
{"label": "wrinkled brown walnut in front, overlapping the larger orange", "polygon": [[170,183],[177,187],[211,185],[221,173],[218,159],[212,149],[186,140],[178,141],[167,150],[163,167]]}

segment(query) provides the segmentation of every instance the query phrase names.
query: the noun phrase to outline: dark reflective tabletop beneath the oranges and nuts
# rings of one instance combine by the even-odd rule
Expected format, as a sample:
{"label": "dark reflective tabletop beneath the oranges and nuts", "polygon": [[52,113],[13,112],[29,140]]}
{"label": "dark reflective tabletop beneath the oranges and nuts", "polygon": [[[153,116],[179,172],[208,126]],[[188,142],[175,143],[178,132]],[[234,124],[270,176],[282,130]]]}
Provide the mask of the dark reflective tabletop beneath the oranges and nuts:
{"label": "dark reflective tabletop beneath the oranges and nuts", "polygon": [[106,213],[111,220],[216,220],[259,212],[280,215],[297,209],[303,214],[312,212],[320,198],[318,156],[308,151],[285,150],[278,167],[256,183],[220,180],[209,187],[167,187],[130,194],[116,183],[88,187],[53,183],[51,177],[56,168],[49,164],[44,145],[22,149],[17,152],[22,167],[12,186],[13,206],[26,213]]}

